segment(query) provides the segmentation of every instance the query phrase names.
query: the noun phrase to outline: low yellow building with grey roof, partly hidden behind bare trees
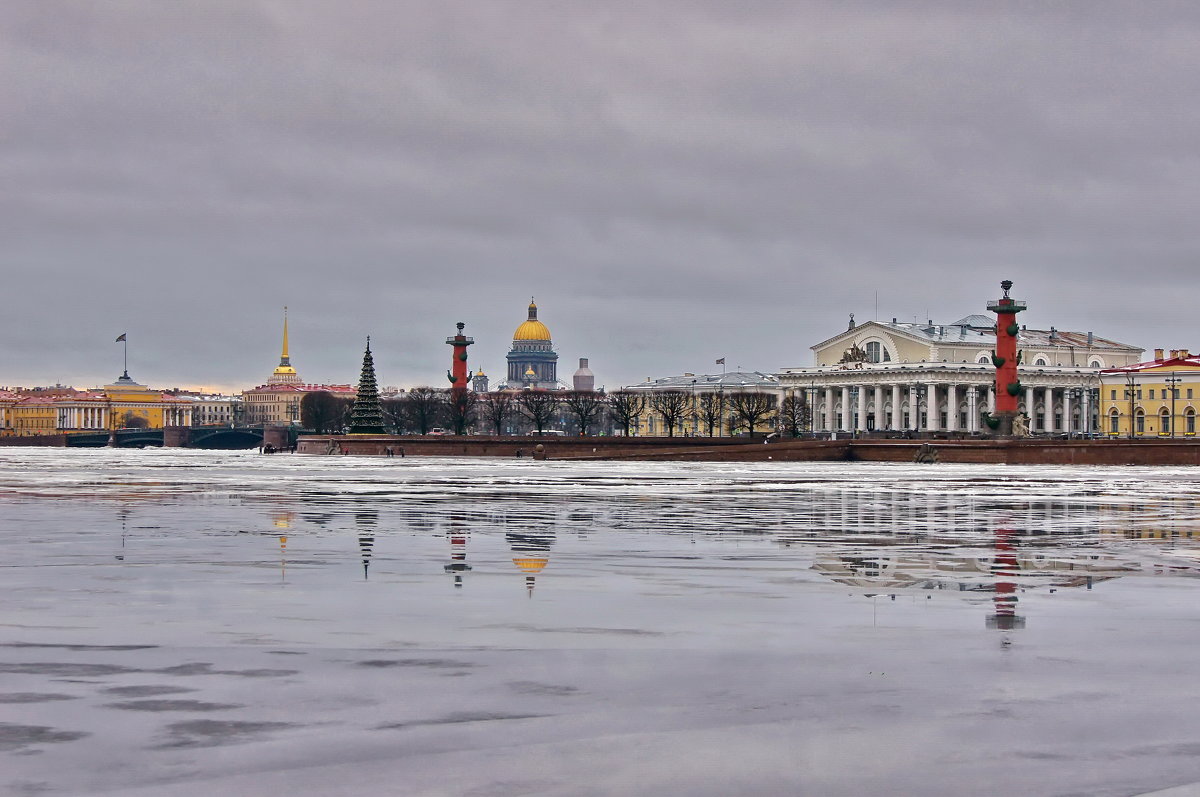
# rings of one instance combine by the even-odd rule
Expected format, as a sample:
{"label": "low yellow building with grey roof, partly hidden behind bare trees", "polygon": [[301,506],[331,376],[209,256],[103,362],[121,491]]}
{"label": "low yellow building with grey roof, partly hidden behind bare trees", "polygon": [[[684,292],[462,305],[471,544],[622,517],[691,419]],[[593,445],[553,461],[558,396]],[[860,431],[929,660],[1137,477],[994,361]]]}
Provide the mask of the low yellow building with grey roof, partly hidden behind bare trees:
{"label": "low yellow building with grey roof, partly hidden behind bare trees", "polygon": [[[736,402],[738,396],[760,394],[766,396],[767,412],[755,424],[755,433],[768,433],[775,429],[775,414],[779,407],[779,379],[762,371],[731,371],[728,373],[683,373],[662,377],[650,382],[632,384],[622,390],[643,394],[647,397],[646,413],[638,419],[635,435],[668,435],[667,424],[660,412],[649,406],[656,394],[682,394],[679,400],[682,412],[676,420],[676,435],[708,435],[708,415],[713,419],[713,435],[731,435],[734,431],[746,431],[745,423],[738,417]],[[714,402],[714,403],[709,403]],[[713,407],[713,408],[710,408]]]}

